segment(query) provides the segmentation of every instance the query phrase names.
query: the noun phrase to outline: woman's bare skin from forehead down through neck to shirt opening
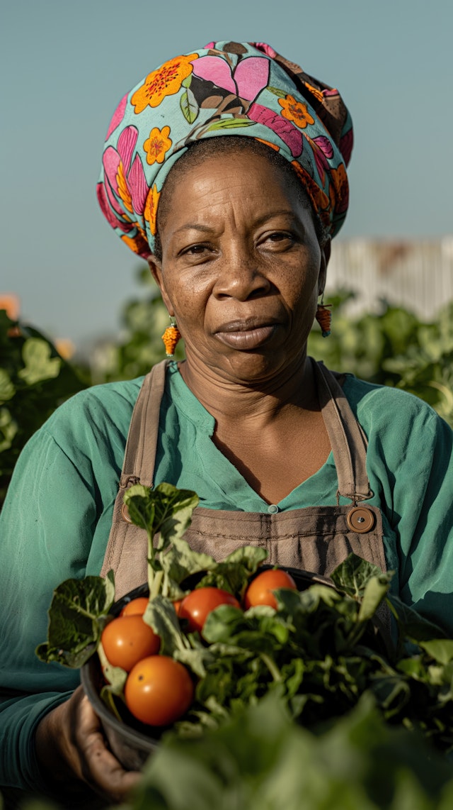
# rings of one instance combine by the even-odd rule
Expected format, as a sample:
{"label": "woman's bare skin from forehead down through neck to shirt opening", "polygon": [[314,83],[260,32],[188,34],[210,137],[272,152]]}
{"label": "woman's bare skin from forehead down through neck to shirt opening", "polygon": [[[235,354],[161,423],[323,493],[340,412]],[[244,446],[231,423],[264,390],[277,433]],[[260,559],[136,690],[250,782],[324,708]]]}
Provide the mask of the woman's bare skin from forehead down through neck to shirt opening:
{"label": "woman's bare skin from forehead down through neck to shirt opening", "polygon": [[150,266],[184,337],[180,373],[215,444],[277,503],[330,450],[306,363],[327,249],[294,184],[254,154],[206,158],[167,209]]}

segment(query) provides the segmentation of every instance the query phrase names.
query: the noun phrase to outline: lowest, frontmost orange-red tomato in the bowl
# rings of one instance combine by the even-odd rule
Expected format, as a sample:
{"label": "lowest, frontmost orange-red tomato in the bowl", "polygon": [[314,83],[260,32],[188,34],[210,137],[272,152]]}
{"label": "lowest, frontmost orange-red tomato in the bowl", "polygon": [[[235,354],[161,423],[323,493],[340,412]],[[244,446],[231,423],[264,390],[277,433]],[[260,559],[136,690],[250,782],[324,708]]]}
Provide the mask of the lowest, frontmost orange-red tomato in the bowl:
{"label": "lowest, frontmost orange-red tomato in the bowl", "polygon": [[186,713],[193,691],[192,678],[182,663],[167,655],[150,655],[129,672],[125,701],[142,723],[168,726]]}

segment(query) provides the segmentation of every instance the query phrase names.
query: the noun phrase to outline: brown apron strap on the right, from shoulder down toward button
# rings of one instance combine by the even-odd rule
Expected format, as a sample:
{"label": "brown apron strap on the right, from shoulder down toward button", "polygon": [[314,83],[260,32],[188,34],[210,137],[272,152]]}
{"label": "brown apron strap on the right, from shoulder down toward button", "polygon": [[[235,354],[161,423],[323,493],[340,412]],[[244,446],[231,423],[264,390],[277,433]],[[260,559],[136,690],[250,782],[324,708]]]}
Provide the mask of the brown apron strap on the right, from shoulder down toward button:
{"label": "brown apron strap on the right, from shoulder down toward button", "polygon": [[366,474],[366,437],[337,382],[337,377],[326,369],[324,363],[310,359],[315,372],[321,414],[337,468],[337,498],[349,498],[356,505],[373,495]]}

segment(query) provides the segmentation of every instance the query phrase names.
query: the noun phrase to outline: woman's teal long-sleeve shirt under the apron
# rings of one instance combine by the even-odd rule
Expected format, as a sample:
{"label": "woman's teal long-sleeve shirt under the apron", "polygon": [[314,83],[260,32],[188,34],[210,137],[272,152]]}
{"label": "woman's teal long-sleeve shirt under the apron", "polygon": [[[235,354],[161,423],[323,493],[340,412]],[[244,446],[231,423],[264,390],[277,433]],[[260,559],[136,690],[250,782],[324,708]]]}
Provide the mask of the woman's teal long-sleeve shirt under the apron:
{"label": "woman's teal long-sleeve shirt under the apron", "polygon": [[[36,658],[53,589],[98,574],[125,442],[142,379],[94,386],[62,405],[17,463],[0,514],[0,784],[40,789],[37,723],[78,685],[78,672]],[[410,394],[347,376],[345,396],[368,438],[366,466],[383,512],[387,569],[400,596],[453,635],[453,433]],[[212,441],[214,419],[167,370],[155,482],[194,489],[211,509],[269,504]],[[335,505],[332,454],[278,509]],[[347,501],[344,501],[345,503]]]}

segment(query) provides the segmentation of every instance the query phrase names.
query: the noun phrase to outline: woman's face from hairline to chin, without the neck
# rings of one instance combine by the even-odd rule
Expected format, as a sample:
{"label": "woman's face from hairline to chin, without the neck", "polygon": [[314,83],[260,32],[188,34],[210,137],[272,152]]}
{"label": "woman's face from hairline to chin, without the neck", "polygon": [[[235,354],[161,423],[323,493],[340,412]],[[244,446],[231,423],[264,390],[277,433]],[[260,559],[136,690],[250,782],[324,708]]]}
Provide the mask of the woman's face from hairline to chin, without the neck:
{"label": "woman's face from hairline to chin, without the neck", "polygon": [[303,360],[326,258],[294,182],[250,152],[183,173],[151,270],[189,363],[259,382]]}

